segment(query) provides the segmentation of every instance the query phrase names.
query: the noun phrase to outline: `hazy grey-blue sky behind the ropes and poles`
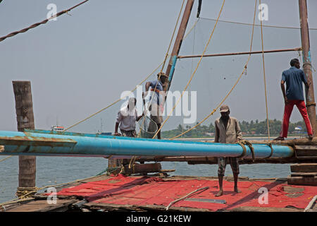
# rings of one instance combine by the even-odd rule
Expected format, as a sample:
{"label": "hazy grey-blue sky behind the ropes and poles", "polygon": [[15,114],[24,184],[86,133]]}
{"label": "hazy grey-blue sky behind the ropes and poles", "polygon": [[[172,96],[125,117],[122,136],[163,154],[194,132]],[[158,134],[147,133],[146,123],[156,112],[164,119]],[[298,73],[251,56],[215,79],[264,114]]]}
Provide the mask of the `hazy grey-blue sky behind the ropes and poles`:
{"label": "hazy grey-blue sky behind the ropes and poles", "polygon": [[[4,0],[0,4],[0,36],[44,20],[53,3],[57,11],[70,8],[75,0]],[[188,28],[197,13],[195,2]],[[265,25],[299,28],[297,0],[266,0]],[[307,0],[309,27],[317,28],[317,1]],[[71,126],[117,100],[131,90],[163,61],[182,0],[90,0],[57,21],[0,42],[0,130],[16,131],[12,81],[31,81],[35,127],[49,129],[58,124]],[[222,1],[204,0],[202,18],[216,18]],[[252,23],[254,0],[226,0],[221,20]],[[259,13],[259,11],[257,11]],[[256,20],[259,24],[259,20]],[[199,20],[184,40],[180,54],[201,54],[214,22]],[[187,29],[188,30],[188,29]],[[300,47],[300,31],[265,28],[264,49]],[[218,23],[206,54],[249,51],[251,27]],[[317,68],[317,30],[310,31],[311,57]],[[255,29],[254,51],[261,50],[259,28]],[[266,54],[266,81],[270,119],[282,119],[283,100],[280,78],[297,52]],[[244,68],[247,56],[205,58],[189,90],[197,91],[197,121],[218,105]],[[176,64],[171,91],[182,90],[197,59]],[[157,72],[157,71],[156,71]],[[313,72],[315,75],[315,72]],[[155,78],[151,76],[151,79]],[[316,79],[314,78],[316,89]],[[144,88],[144,85],[143,85]],[[120,104],[98,114],[73,131],[113,131]],[[225,102],[232,116],[250,121],[266,118],[261,55],[254,55],[237,88]],[[209,121],[219,117],[216,112]],[[297,109],[291,121],[301,120]],[[181,117],[171,117],[163,130],[173,129]]]}

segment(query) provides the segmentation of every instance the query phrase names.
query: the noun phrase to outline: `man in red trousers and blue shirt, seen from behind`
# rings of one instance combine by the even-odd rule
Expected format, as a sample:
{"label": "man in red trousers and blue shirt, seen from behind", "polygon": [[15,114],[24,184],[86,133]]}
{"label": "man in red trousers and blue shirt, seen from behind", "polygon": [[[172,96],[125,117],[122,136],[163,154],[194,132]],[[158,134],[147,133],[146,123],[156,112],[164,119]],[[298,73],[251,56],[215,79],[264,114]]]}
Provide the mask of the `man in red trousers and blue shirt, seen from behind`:
{"label": "man in red trousers and blue shirt, seen from behind", "polygon": [[[298,59],[292,59],[290,65],[290,69],[283,71],[282,81],[280,82],[280,88],[282,89],[285,100],[285,108],[282,130],[280,131],[280,136],[274,139],[275,141],[284,141],[285,138],[287,138],[288,125],[294,105],[296,105],[302,114],[309,138],[313,138],[313,130],[311,129],[311,122],[309,121],[303,95],[303,83],[306,85],[306,88],[308,88],[310,81],[307,83],[305,73],[300,69]],[[286,83],[286,92],[284,83]]]}

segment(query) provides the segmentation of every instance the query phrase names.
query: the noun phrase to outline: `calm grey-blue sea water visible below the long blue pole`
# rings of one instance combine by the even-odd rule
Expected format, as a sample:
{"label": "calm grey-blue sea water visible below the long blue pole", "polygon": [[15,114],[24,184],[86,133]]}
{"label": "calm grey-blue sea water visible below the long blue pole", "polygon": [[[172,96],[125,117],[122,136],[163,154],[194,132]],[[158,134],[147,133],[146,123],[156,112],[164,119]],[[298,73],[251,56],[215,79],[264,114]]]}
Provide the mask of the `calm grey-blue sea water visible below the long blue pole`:
{"label": "calm grey-blue sea water visible below the long blue pole", "polygon": [[[5,156],[1,156],[0,159]],[[161,162],[162,169],[175,169],[170,175],[216,177],[218,165],[188,165],[187,162]],[[92,177],[106,169],[108,160],[102,157],[37,157],[36,186],[46,186],[72,182],[76,179]],[[0,162],[0,203],[15,198],[18,187],[18,157],[10,157]],[[290,164],[240,165],[240,176],[287,177]],[[230,165],[225,176],[232,175]]]}

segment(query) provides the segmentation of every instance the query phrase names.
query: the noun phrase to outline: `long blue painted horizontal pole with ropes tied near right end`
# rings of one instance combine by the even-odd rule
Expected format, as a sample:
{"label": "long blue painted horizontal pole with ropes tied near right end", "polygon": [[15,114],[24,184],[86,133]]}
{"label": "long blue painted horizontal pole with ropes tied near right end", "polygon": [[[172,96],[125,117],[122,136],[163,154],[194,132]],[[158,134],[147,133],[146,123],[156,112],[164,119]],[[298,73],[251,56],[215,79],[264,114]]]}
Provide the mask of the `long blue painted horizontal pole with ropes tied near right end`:
{"label": "long blue painted horizontal pole with ropes tied near right end", "polygon": [[[243,153],[243,148],[239,144],[154,140],[51,131],[0,131],[0,145],[4,145],[4,151],[0,155],[238,157]],[[271,148],[268,145],[254,144],[253,147],[256,158],[271,155]],[[251,150],[247,145],[246,150],[244,158],[251,158]],[[273,150],[271,158],[294,155],[292,148],[285,145],[273,145]]]}

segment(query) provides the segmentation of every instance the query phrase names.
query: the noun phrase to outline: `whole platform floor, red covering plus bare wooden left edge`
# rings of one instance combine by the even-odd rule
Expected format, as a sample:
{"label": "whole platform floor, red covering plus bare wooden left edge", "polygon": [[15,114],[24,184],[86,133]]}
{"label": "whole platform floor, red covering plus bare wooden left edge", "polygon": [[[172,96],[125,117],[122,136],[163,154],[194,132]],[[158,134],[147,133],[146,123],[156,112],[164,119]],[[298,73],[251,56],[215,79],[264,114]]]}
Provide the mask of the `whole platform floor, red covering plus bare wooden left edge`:
{"label": "whole platform floor, red covering plus bare wooden left edge", "polygon": [[[32,200],[4,206],[8,212],[60,211],[168,211],[198,212],[303,212],[317,194],[316,186],[287,184],[286,178],[239,178],[240,194],[233,192],[233,179],[224,178],[224,195],[216,197],[217,177],[168,177],[101,175],[56,188],[56,203],[49,203],[50,193],[35,194]],[[199,191],[199,189],[202,189]],[[262,190],[261,190],[262,189]],[[267,201],[261,198],[268,190]],[[197,191],[194,192],[193,191]],[[317,211],[312,203],[306,211]]]}

